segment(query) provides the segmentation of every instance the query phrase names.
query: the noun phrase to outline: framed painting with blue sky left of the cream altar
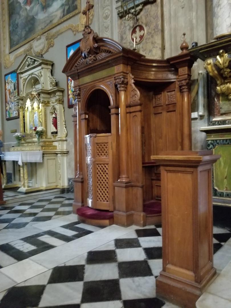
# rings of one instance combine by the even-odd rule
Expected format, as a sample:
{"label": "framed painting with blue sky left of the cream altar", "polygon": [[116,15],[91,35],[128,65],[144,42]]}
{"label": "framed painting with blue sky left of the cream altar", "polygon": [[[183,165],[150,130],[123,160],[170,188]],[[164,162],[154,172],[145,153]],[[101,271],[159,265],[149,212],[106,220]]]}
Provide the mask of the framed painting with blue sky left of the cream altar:
{"label": "framed painting with blue sky left of the cream altar", "polygon": [[5,100],[6,100],[6,120],[19,118],[18,103],[15,97],[18,96],[18,74],[12,71],[4,75],[5,80]]}

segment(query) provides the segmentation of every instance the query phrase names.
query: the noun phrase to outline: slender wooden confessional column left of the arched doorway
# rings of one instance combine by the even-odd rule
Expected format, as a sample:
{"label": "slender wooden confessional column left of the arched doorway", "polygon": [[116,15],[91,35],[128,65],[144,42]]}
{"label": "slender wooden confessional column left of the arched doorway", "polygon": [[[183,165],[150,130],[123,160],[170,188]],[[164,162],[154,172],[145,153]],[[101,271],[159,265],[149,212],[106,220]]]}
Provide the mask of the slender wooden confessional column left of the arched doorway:
{"label": "slender wooden confessional column left of the arched doorway", "polygon": [[73,107],[73,123],[74,123],[74,163],[75,177],[74,184],[74,202],[72,204],[73,213],[76,214],[76,209],[84,205],[83,199],[83,156],[82,156],[82,133],[80,120],[80,90],[77,89],[74,95],[77,97],[77,103]]}

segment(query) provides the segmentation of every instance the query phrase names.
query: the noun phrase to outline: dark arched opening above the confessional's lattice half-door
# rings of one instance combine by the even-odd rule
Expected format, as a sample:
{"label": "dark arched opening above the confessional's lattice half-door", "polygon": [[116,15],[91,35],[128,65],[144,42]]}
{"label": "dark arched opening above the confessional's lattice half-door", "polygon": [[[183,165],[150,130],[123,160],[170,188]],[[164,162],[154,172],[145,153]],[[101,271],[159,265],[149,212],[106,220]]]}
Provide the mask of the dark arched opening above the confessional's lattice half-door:
{"label": "dark arched opening above the confessional's lattice half-door", "polygon": [[111,133],[110,99],[101,89],[92,91],[87,99],[87,134]]}

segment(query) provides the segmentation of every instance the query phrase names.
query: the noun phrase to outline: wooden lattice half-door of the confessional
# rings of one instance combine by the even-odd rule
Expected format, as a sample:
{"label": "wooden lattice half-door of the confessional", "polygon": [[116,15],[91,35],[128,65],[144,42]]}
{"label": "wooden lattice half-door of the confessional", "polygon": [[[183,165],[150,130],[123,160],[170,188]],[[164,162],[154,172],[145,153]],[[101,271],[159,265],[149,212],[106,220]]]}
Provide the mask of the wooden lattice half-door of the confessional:
{"label": "wooden lattice half-door of the confessional", "polygon": [[85,137],[87,205],[113,211],[111,134]]}

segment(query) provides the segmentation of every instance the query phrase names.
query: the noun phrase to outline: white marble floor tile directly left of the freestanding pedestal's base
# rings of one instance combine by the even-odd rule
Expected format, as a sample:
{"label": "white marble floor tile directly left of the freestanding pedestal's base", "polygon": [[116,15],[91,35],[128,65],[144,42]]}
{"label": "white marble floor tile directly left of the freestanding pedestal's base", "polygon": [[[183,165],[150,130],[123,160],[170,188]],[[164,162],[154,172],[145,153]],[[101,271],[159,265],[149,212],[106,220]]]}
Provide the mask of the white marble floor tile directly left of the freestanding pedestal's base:
{"label": "white marble floor tile directly left of the freestanding pedestal's base", "polygon": [[123,300],[153,298],[156,296],[156,281],[153,276],[120,279]]}

